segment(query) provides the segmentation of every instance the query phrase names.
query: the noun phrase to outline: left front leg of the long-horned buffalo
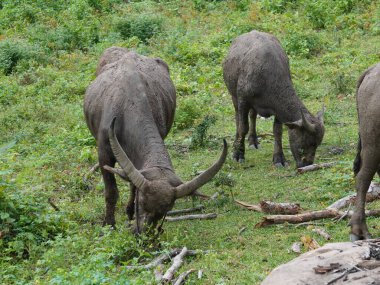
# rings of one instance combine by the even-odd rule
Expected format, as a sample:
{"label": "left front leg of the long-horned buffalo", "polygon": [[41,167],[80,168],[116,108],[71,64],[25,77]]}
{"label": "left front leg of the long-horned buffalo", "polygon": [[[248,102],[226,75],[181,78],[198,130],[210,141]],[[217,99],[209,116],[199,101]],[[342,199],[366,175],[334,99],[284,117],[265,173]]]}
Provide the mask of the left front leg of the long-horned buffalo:
{"label": "left front leg of the long-horned buffalo", "polygon": [[115,208],[117,200],[119,198],[119,191],[117,189],[115,175],[105,170],[103,166],[108,165],[114,167],[116,160],[110,158],[107,155],[109,152],[105,151],[101,145],[98,146],[98,149],[99,165],[104,181],[104,197],[106,200],[106,215],[104,218],[103,225],[110,225],[112,227],[115,227]]}

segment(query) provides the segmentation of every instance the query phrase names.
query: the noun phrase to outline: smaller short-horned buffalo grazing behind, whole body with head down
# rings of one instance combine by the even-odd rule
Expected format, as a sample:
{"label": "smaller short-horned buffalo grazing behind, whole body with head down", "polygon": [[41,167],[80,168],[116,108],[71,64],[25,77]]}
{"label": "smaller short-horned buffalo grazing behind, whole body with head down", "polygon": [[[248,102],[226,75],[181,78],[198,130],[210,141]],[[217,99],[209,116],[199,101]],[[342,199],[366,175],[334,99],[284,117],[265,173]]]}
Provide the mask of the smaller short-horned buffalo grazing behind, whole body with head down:
{"label": "smaller short-horned buffalo grazing behind, whole body with head down", "polygon": [[324,134],[323,111],[314,117],[296,95],[288,57],[274,36],[251,31],[237,37],[224,61],[223,76],[235,107],[233,158],[236,161],[244,161],[244,139],[248,131],[250,147],[258,148],[256,117],[259,114],[275,116],[273,163],[276,166],[286,163],[282,124],[289,127],[290,148],[297,167],[313,163]]}

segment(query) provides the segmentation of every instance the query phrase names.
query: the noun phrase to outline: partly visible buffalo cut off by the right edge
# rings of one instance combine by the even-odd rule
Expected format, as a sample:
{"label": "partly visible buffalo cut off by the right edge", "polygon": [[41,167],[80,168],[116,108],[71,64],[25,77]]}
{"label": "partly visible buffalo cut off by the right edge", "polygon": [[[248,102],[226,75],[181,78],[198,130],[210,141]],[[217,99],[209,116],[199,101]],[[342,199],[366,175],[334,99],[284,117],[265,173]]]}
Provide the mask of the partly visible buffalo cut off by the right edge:
{"label": "partly visible buffalo cut off by the right edge", "polygon": [[370,237],[365,220],[365,200],[371,181],[380,175],[380,63],[358,80],[356,103],[359,116],[358,153],[354,162],[357,199],[351,218],[351,239]]}

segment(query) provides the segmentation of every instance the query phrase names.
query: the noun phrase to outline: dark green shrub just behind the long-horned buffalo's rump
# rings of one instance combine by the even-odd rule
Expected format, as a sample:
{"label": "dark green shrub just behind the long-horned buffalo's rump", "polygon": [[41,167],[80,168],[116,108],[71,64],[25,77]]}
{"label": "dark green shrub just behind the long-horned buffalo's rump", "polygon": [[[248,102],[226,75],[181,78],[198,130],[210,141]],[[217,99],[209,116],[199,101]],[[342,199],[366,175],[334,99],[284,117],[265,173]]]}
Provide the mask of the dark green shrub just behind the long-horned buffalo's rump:
{"label": "dark green shrub just behind the long-horned buffalo's rump", "polygon": [[132,18],[124,18],[116,23],[115,30],[124,39],[137,37],[147,42],[155,34],[162,31],[163,18],[148,14],[142,14]]}

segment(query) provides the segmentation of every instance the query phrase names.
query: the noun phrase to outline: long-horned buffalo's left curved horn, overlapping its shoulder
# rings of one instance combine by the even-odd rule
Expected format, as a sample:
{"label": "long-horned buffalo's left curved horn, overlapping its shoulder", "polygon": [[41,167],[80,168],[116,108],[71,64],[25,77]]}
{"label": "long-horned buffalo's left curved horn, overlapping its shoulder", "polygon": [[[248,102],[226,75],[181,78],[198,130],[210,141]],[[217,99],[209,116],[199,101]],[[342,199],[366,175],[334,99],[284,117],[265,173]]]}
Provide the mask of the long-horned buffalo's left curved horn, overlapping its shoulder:
{"label": "long-horned buffalo's left curved horn, overlapping its shoulder", "polygon": [[129,177],[131,182],[138,188],[142,189],[146,185],[147,181],[145,177],[135,168],[133,163],[129,160],[127,154],[121,148],[119,141],[115,134],[115,121],[116,117],[112,119],[111,126],[108,130],[108,136],[111,144],[111,149],[116,157],[117,162],[124,170],[125,174]]}

